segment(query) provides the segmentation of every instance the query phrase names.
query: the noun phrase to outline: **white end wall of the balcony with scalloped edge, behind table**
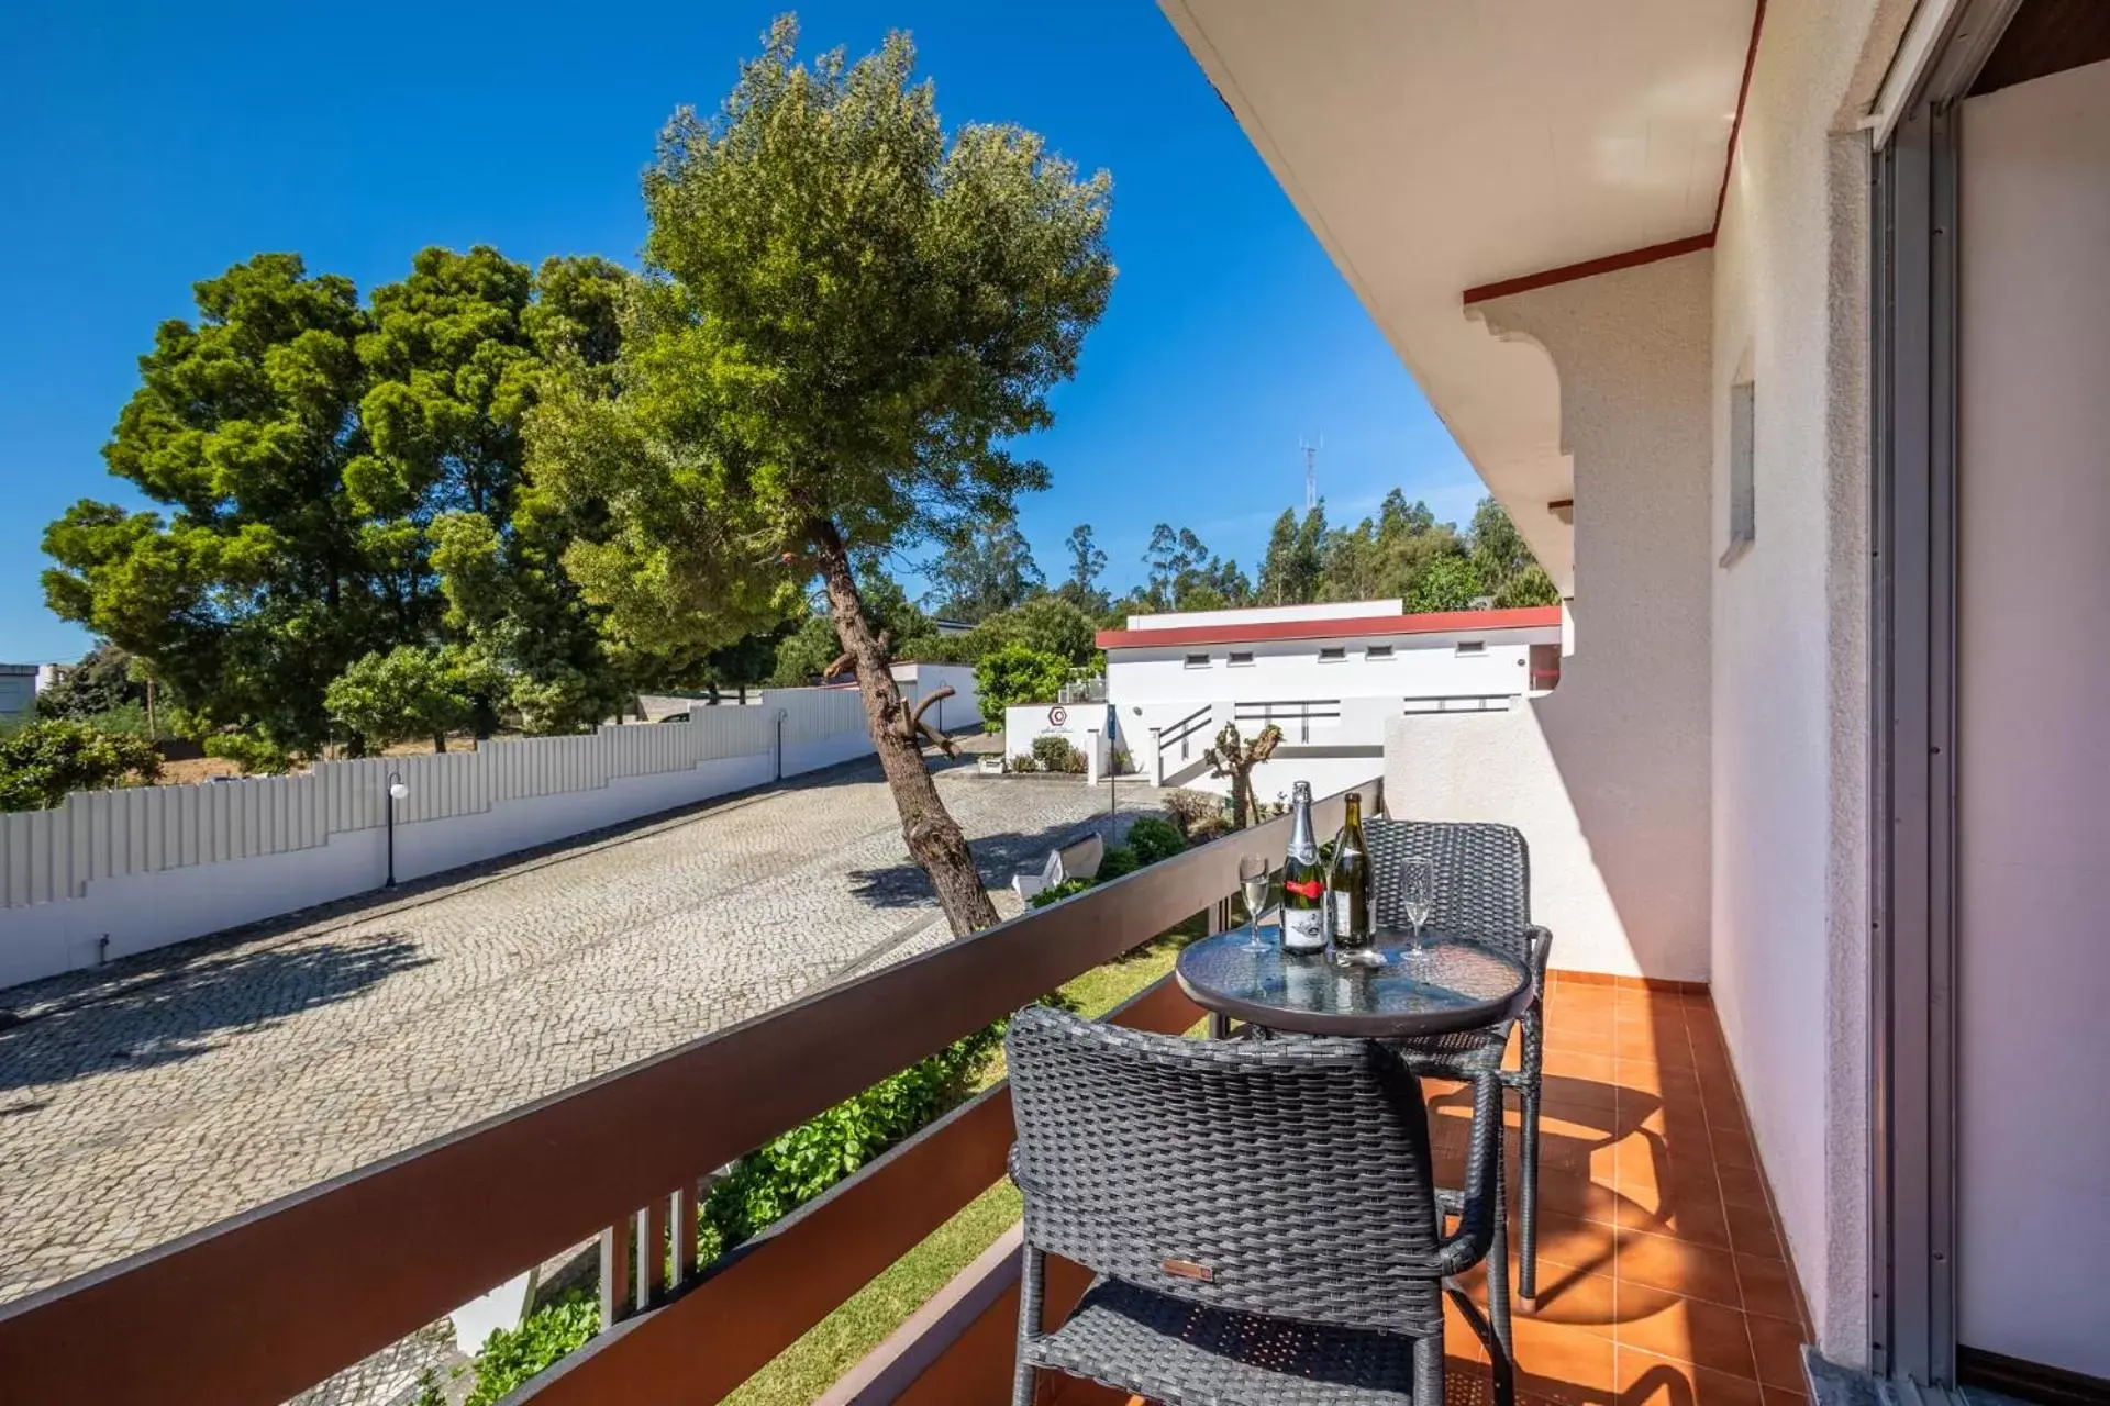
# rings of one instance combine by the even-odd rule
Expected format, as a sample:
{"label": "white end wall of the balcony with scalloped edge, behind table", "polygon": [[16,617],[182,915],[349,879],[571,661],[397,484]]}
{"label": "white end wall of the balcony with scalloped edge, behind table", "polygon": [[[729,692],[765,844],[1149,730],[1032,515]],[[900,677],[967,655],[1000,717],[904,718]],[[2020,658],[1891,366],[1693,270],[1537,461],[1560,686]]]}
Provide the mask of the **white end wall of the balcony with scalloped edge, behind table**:
{"label": "white end wall of the balcony with scalloped edge, behind table", "polygon": [[1409,788],[1414,774],[1454,774],[1441,797],[1454,820],[1513,820],[1521,797],[1542,807],[1542,820],[1513,822],[1532,843],[1534,887],[1540,852],[1549,875],[1572,871],[1574,932],[1555,927],[1557,968],[1709,976],[1711,270],[1694,253],[1479,310],[1496,335],[1540,346],[1559,375],[1574,653],[1559,689],[1530,704],[1511,761],[1490,755],[1479,780],[1445,772],[1454,719],[1416,719],[1390,734],[1401,753],[1388,769],[1403,767]]}

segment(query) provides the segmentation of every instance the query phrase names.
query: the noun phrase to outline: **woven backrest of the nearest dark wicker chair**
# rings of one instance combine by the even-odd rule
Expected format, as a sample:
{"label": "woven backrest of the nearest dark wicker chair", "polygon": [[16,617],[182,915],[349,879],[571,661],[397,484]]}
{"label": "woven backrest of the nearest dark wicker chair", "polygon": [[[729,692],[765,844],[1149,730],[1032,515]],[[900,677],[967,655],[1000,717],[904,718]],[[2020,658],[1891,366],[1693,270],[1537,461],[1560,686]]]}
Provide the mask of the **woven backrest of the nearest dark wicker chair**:
{"label": "woven backrest of the nearest dark wicker chair", "polygon": [[1179,1039],[1038,1005],[1004,1050],[1036,1248],[1209,1307],[1441,1332],[1428,1115],[1395,1052]]}

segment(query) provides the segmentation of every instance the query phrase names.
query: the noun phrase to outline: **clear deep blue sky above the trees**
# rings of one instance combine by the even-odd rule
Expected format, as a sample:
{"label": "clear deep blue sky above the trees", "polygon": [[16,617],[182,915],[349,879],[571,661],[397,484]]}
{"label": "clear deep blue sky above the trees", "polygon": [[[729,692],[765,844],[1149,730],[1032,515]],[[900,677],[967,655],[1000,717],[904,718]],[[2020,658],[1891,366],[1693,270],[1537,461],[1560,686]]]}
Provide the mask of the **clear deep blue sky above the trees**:
{"label": "clear deep blue sky above the trees", "polygon": [[[361,289],[424,245],[635,263],[637,173],[715,108],[783,4],[289,6],[110,0],[0,17],[0,660],[72,658],[38,538],[101,464],[154,325],[260,251]],[[1462,521],[1479,483],[1148,0],[806,4],[804,46],[916,36],[947,122],[1038,129],[1114,177],[1120,276],[1021,504],[1051,580],[1091,523],[1116,592],[1156,521],[1258,565],[1325,436],[1334,519],[1393,485]]]}

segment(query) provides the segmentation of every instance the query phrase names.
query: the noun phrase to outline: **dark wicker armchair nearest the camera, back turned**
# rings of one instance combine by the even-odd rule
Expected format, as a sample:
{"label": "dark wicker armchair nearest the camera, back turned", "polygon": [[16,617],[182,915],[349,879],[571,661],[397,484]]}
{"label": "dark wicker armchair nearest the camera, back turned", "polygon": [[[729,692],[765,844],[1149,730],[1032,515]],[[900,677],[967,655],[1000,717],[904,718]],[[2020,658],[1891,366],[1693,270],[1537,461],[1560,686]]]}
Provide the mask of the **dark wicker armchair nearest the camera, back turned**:
{"label": "dark wicker armchair nearest the camera, back turned", "polygon": [[[1165,1406],[1437,1406],[1445,1292],[1513,1402],[1509,1355],[1454,1282],[1502,1252],[1492,1073],[1466,1191],[1439,1197],[1420,1083],[1384,1046],[1177,1039],[1036,1005],[1004,1052],[1025,1197],[1013,1406],[1036,1370]],[[1047,1254],[1097,1277],[1044,1332]]]}

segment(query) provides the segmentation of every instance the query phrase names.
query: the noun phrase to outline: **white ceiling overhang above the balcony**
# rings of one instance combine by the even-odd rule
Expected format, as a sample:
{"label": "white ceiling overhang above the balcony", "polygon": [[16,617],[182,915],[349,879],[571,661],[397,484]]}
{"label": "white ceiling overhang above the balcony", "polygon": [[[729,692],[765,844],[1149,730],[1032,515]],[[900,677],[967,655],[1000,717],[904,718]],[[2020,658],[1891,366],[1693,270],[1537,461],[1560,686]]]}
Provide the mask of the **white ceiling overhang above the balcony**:
{"label": "white ceiling overhang above the balcony", "polygon": [[1469,293],[1711,245],[1760,0],[1158,2],[1570,594],[1553,367]]}

